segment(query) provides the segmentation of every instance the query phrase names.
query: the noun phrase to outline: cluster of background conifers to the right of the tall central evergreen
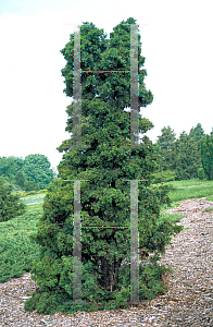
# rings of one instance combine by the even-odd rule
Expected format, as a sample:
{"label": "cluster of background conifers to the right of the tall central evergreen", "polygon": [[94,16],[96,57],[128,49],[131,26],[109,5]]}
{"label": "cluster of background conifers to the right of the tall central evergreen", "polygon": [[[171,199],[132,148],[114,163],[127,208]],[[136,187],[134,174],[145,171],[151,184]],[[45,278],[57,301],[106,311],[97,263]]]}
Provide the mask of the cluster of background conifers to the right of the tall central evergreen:
{"label": "cluster of background conifers to the right of the tall central evergreen", "polygon": [[213,129],[204,134],[202,125],[181,132],[178,138],[171,126],[163,128],[154,144],[159,171],[153,182],[199,178],[213,180]]}

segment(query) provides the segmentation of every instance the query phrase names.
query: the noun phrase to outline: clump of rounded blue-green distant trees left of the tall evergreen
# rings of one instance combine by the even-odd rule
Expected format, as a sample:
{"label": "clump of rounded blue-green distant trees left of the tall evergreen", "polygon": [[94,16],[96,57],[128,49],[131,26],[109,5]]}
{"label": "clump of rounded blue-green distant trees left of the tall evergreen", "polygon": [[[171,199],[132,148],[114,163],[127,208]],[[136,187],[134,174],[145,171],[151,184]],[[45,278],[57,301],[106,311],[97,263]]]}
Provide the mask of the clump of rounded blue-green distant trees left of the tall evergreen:
{"label": "clump of rounded blue-green distant trees left of the tall evergreen", "polygon": [[55,172],[45,155],[29,155],[25,159],[0,157],[0,175],[23,191],[39,191],[49,186]]}

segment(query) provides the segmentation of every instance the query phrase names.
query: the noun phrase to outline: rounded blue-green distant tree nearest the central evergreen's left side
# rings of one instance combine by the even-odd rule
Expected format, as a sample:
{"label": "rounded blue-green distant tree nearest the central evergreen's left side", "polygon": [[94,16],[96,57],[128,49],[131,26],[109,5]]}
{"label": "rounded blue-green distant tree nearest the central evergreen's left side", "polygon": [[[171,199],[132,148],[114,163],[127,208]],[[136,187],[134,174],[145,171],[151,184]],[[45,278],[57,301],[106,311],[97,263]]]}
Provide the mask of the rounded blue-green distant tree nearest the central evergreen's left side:
{"label": "rounded blue-green distant tree nearest the central evergreen's left side", "polygon": [[50,166],[50,161],[45,155],[28,155],[24,159],[23,172],[28,182],[34,182],[34,185],[37,184],[40,190],[45,190],[53,179]]}

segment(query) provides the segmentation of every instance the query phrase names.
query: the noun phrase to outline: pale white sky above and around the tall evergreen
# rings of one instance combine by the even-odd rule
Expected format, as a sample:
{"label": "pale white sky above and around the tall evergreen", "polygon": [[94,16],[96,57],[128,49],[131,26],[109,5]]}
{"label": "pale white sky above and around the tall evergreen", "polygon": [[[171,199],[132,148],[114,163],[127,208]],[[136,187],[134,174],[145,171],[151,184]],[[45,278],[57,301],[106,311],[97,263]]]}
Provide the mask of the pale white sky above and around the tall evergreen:
{"label": "pale white sky above and around the tall evergreen", "polygon": [[113,27],[134,17],[139,24],[145,83],[153,102],[140,108],[154,128],[154,143],[170,125],[176,137],[201,123],[213,128],[212,1],[197,0],[0,0],[0,157],[48,157],[57,168],[57,150],[65,132],[66,106],[60,50],[74,25],[91,22],[110,38]]}

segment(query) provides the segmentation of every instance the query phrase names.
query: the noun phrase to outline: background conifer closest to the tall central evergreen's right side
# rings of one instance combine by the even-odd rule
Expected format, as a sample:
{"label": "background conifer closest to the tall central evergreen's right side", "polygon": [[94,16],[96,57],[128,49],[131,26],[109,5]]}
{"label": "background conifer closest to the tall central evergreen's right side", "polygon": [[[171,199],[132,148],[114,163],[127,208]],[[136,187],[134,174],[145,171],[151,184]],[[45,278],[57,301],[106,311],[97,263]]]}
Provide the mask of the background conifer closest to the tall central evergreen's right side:
{"label": "background conifer closest to the tall central evergreen's right side", "polygon": [[159,164],[163,171],[174,171],[176,168],[176,134],[171,126],[164,126],[158,136],[160,160]]}

